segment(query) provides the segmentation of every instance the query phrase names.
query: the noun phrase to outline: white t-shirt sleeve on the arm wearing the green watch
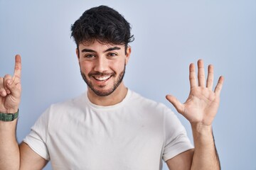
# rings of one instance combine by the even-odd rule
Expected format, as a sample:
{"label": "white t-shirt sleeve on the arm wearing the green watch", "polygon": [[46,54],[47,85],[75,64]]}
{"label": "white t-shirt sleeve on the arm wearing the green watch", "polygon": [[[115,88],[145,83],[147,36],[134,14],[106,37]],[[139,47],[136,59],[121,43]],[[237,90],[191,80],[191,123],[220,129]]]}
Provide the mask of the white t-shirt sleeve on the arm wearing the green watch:
{"label": "white t-shirt sleeve on the arm wearing the green watch", "polygon": [[50,160],[48,148],[46,145],[48,137],[48,114],[49,109],[43,113],[31,128],[31,132],[25,137],[25,142],[34,152],[46,160]]}

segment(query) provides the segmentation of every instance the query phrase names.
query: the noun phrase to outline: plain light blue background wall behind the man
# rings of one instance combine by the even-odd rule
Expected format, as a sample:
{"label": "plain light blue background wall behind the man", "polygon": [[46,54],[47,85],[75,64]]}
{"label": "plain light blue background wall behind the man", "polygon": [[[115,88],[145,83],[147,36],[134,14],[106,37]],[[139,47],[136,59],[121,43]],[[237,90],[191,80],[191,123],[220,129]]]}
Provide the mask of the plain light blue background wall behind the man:
{"label": "plain light blue background wall behind the man", "polygon": [[[105,4],[132,24],[135,41],[124,81],[143,96],[171,106],[185,101],[188,64],[202,58],[224,75],[214,121],[223,169],[256,169],[256,1],[14,1],[0,0],[0,75],[22,57],[23,94],[18,141],[50,105],[78,96],[80,77],[70,25],[85,9]],[[191,128],[182,116],[191,137]],[[50,164],[45,169],[50,169]],[[164,169],[167,169],[166,166]]]}

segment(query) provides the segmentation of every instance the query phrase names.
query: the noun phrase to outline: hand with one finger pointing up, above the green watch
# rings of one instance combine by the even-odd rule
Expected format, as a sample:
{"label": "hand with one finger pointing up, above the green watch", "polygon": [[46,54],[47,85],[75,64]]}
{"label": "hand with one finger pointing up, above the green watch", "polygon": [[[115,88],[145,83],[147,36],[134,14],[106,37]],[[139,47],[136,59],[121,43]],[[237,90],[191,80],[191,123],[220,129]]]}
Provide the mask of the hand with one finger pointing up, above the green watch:
{"label": "hand with one finger pointing up, above the green watch", "polygon": [[0,77],[0,112],[16,113],[21,101],[21,56],[15,57],[14,76]]}

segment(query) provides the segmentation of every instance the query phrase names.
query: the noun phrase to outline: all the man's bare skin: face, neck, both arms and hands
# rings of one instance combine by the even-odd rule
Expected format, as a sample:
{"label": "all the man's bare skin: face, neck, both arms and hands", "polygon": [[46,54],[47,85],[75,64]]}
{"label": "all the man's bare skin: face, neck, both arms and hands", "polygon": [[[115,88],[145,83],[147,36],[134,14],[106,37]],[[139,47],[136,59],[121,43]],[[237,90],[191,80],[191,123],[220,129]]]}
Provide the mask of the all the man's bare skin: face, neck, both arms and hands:
{"label": "all the man's bare skin: face, neck, both arms and hands", "polygon": [[[123,45],[105,45],[95,41],[82,43],[78,49],[76,53],[79,54],[80,71],[83,78],[90,84],[87,90],[90,101],[100,106],[111,106],[122,101],[127,94],[127,88],[120,79],[120,75],[129,61],[131,48],[128,47],[125,54]],[[178,113],[181,113],[191,123],[195,149],[178,154],[169,159],[166,164],[169,169],[176,170],[220,169],[218,155],[215,152],[212,123],[218,111],[223,77],[220,77],[213,91],[212,65],[208,67],[208,78],[205,80],[203,60],[198,60],[198,84],[194,64],[191,64],[189,68],[191,91],[186,102],[181,103],[171,95],[167,95],[166,98],[174,105]],[[0,78],[0,111],[15,113],[20,101],[21,57],[16,55],[14,75]],[[18,146],[15,135],[16,123],[17,120],[0,121],[0,170],[43,169],[47,164],[45,159],[33,152],[24,142]]]}

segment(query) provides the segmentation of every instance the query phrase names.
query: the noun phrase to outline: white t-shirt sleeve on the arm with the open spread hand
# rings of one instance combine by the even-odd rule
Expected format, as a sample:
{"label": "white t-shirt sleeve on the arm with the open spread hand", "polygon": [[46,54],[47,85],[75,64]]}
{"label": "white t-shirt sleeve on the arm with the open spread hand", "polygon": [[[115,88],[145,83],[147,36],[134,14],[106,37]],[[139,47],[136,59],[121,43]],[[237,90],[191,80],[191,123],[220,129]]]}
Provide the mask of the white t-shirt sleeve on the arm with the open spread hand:
{"label": "white t-shirt sleeve on the arm with the open spread hand", "polygon": [[167,109],[164,115],[164,135],[163,159],[165,162],[188,149],[193,149],[185,128],[170,109]]}

